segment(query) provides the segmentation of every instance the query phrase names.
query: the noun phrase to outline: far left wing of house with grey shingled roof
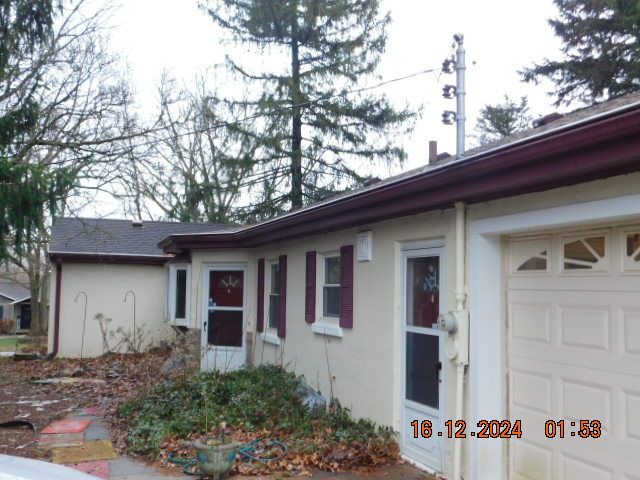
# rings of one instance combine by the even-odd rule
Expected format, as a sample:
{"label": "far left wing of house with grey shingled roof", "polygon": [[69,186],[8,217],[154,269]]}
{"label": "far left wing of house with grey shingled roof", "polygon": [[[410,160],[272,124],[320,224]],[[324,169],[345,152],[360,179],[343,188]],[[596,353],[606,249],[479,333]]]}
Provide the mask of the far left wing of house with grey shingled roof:
{"label": "far left wing of house with grey shingled roof", "polygon": [[[237,227],[56,219],[49,246],[53,263],[49,350],[62,357],[98,356],[110,350],[125,350],[134,331],[136,346],[143,349],[172,338],[170,323],[179,325],[180,321],[167,316],[165,265],[174,256],[163,253],[158,243],[175,232],[234,228]],[[102,320],[98,321],[96,315]]]}

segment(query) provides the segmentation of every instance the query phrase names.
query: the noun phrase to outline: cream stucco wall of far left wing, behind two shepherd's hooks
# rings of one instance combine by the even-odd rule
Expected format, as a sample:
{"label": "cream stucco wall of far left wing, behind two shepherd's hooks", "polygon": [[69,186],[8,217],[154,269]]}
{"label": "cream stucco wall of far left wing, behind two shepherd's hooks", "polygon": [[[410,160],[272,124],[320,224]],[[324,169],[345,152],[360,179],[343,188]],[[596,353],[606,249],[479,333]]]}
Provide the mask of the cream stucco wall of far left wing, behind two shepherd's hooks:
{"label": "cream stucco wall of far left wing, behind two shepherd's hooks", "polygon": [[[173,332],[165,321],[165,268],[147,265],[82,264],[62,265],[60,298],[59,357],[79,357],[82,345],[84,296],[87,294],[87,317],[82,354],[95,357],[104,353],[103,335],[95,319],[102,313],[111,318],[107,339],[110,348],[116,348],[123,334],[133,332],[133,296],[136,296],[136,326],[142,329],[142,348],[162,339],[171,338]],[[49,312],[49,332],[54,331],[56,266],[52,266]],[[121,329],[118,332],[118,329]],[[138,337],[139,339],[140,337]],[[120,347],[122,348],[122,347]],[[53,349],[53,334],[49,335],[49,351]]]}

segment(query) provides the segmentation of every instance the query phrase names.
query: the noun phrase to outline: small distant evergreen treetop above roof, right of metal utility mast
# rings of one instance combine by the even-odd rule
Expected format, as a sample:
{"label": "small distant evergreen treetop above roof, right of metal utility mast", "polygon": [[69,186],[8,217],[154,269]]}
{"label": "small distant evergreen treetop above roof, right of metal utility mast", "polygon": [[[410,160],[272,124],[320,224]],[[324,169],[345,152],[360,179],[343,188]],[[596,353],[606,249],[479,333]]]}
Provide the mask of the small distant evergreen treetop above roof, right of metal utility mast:
{"label": "small distant evergreen treetop above roof, right of metal utility mast", "polygon": [[478,140],[484,145],[508,137],[529,128],[531,120],[527,97],[520,98],[520,102],[516,103],[505,95],[503,103],[485,105],[480,110],[476,122]]}

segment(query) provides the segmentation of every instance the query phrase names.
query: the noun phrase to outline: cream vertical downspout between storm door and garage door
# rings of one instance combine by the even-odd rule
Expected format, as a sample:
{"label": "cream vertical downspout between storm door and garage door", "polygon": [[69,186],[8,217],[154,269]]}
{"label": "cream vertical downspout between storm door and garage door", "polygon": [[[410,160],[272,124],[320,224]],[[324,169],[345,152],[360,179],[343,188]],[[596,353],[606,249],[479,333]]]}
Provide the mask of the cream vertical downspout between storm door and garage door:
{"label": "cream vertical downspout between storm door and garage door", "polygon": [[[464,419],[464,374],[469,364],[469,311],[466,277],[466,205],[456,203],[456,309],[453,312],[457,325],[456,345],[456,410],[454,418]],[[453,480],[462,478],[462,439],[455,438],[453,450]]]}

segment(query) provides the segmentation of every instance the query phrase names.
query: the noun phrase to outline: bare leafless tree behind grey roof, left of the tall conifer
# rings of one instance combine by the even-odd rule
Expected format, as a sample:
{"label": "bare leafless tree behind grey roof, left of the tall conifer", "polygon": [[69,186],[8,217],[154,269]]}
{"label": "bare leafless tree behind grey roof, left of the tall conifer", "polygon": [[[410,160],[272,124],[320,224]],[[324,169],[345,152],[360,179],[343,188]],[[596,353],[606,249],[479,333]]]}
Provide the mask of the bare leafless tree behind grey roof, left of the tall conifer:
{"label": "bare leafless tree behind grey roof, left of the tall conifer", "polygon": [[188,91],[165,75],[159,98],[154,133],[121,169],[128,210],[183,222],[234,221],[258,158],[252,139],[235,126],[242,112],[208,91],[204,79]]}

